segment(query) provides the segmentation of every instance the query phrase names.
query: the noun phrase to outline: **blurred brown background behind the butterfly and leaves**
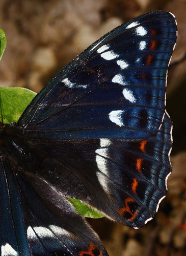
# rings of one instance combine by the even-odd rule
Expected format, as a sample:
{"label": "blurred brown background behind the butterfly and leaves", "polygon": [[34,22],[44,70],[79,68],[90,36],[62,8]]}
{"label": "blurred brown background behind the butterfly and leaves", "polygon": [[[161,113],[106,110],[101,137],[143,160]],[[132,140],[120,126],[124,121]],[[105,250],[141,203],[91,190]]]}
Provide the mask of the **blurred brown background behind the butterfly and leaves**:
{"label": "blurred brown background behind the butterfly and leaves", "polygon": [[73,57],[111,29],[140,14],[166,10],[178,22],[169,67],[167,109],[174,122],[173,174],[153,221],[134,230],[105,219],[90,220],[110,256],[186,255],[186,1],[1,0],[0,27],[7,48],[1,87],[39,92]]}

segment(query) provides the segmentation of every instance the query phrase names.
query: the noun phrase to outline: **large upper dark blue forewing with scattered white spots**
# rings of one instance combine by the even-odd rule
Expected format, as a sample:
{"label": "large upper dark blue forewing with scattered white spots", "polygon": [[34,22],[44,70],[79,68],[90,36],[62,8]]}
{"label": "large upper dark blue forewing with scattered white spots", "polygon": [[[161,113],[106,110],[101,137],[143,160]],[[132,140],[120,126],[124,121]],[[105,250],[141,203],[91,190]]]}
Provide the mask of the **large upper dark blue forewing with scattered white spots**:
{"label": "large upper dark blue forewing with scattered white spots", "polygon": [[140,139],[165,113],[175,17],[163,11],[130,20],[78,55],[34,98],[18,121],[35,139]]}

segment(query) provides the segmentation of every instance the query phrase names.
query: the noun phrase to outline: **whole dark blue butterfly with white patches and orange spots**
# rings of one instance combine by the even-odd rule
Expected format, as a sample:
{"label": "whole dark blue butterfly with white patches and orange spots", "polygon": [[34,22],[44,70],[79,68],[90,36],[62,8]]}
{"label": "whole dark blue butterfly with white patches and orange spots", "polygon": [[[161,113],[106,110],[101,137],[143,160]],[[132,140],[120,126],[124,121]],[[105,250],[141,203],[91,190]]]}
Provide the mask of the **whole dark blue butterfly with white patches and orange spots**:
{"label": "whole dark blue butterfly with white patches and orange spots", "polygon": [[171,173],[165,110],[174,15],[144,14],[52,78],[17,123],[0,123],[1,255],[106,256],[66,197],[140,228]]}

